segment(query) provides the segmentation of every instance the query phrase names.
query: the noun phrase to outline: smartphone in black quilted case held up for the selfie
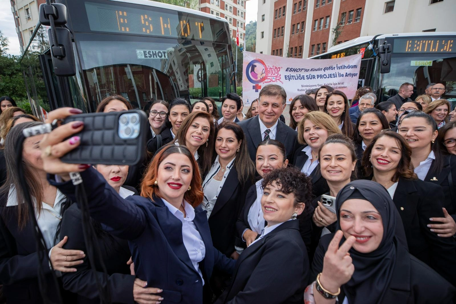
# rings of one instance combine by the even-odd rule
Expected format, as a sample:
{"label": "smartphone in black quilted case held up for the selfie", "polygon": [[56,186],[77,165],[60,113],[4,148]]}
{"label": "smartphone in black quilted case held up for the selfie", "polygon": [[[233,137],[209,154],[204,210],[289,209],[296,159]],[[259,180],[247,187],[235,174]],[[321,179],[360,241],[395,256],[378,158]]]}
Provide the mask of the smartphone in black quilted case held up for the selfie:
{"label": "smartphone in black quilted case held up for the selfie", "polygon": [[61,159],[71,164],[136,165],[144,159],[149,121],[139,109],[87,113],[67,117],[64,124],[83,121],[84,129],[73,136],[81,144]]}

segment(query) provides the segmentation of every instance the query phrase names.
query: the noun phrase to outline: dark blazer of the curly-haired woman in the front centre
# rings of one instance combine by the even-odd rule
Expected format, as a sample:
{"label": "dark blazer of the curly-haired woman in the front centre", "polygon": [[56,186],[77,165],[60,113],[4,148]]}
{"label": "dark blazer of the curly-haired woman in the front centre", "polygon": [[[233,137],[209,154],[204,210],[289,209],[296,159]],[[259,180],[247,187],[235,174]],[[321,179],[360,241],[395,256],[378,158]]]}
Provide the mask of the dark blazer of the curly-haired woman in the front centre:
{"label": "dark blazer of the curly-haired woman in the front centre", "polygon": [[302,304],[309,278],[298,221],[287,221],[242,252],[231,286],[216,304]]}

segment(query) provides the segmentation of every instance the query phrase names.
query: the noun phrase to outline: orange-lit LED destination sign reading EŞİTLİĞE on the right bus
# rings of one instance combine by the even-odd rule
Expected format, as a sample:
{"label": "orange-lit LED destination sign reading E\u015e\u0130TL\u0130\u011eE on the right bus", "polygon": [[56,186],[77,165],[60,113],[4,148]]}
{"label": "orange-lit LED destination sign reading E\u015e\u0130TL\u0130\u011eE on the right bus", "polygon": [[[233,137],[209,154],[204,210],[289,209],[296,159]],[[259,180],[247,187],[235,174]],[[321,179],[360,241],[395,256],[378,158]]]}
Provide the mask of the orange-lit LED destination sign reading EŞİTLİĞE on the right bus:
{"label": "orange-lit LED destination sign reading E\u015e\u0130TL\u0130\u011eE on the right bus", "polygon": [[454,53],[453,39],[398,38],[394,39],[394,53]]}

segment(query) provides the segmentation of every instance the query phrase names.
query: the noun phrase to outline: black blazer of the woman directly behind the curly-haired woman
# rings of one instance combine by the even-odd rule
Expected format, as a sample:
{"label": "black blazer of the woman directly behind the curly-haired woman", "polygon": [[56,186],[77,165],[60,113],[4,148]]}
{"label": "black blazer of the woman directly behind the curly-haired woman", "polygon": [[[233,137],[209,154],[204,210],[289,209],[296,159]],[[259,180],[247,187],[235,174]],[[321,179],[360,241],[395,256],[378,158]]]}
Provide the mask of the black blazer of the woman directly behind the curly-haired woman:
{"label": "black blazer of the woman directly behind the curly-haired woman", "polygon": [[[248,216],[249,216],[250,207],[252,207],[252,205],[256,201],[256,198],[257,198],[256,185],[253,184],[250,186],[249,190],[247,191],[247,194],[245,196],[244,206],[242,207],[242,210],[239,214],[239,218],[236,221],[236,230],[237,230],[236,246],[244,247],[244,248],[246,247],[245,242],[242,240],[242,234],[245,229],[251,230],[250,225],[249,225]],[[307,249],[308,253],[310,253],[309,250],[311,248],[310,244],[311,244],[311,233],[312,233],[311,227],[310,227],[310,225],[308,225],[308,223],[309,223],[308,220],[309,220],[309,218],[311,219],[311,217],[312,217],[311,206],[306,206],[304,211],[297,217],[298,222],[299,222],[299,233],[301,234],[302,240],[306,244],[306,249]],[[264,221],[264,226],[266,226],[266,225],[267,225],[267,222]]]}

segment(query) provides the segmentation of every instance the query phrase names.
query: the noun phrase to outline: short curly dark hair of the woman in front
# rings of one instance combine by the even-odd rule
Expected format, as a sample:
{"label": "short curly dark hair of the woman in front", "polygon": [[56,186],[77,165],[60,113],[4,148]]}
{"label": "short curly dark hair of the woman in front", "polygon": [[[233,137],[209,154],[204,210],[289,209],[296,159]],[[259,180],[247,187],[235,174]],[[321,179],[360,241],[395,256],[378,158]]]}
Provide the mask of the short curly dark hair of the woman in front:
{"label": "short curly dark hair of the woman in front", "polygon": [[[276,182],[277,185],[280,185],[280,191],[283,193],[293,193],[295,196],[295,207],[299,206],[301,203],[304,203],[305,206],[311,206],[313,200],[312,182],[306,174],[301,172],[301,169],[297,167],[274,169],[264,176],[261,187],[264,189],[264,187],[272,182]],[[306,210],[309,209],[311,208],[305,208],[304,212],[307,213]]]}

